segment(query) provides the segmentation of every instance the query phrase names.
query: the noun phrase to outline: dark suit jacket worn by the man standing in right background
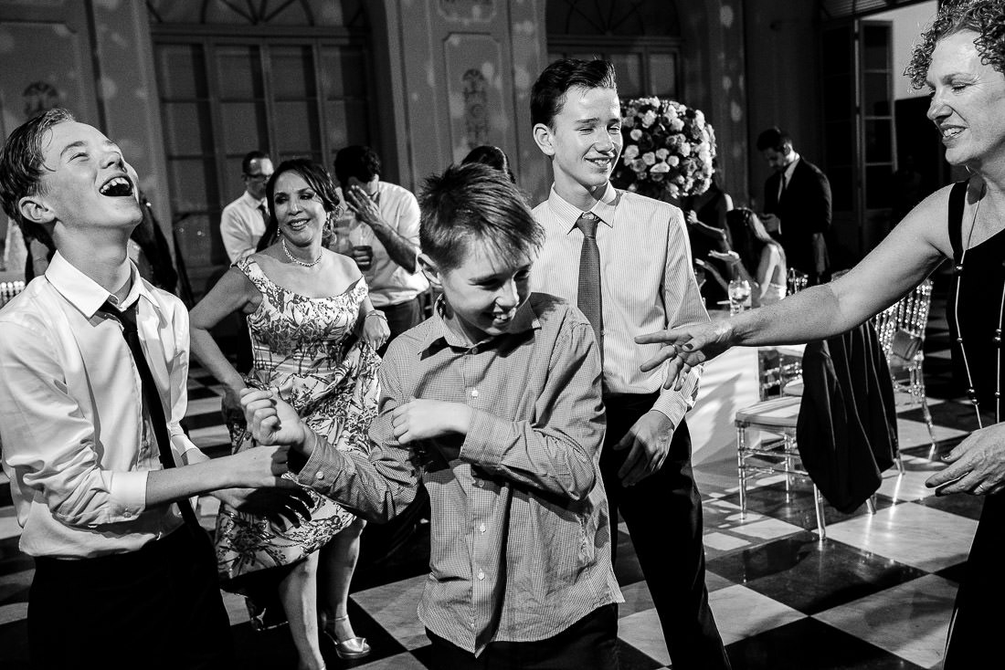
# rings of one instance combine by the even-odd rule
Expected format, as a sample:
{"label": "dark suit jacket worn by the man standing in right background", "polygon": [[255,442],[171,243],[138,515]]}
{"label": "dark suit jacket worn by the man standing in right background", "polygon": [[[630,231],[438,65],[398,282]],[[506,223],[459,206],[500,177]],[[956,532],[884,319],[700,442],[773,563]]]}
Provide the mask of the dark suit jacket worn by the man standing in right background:
{"label": "dark suit jacket worn by the man standing in right background", "polygon": [[830,230],[830,182],[820,169],[800,158],[792,171],[792,179],[778,197],[780,173],[774,173],[764,184],[764,211],[782,220],[780,234],[773,237],[782,243],[789,267],[810,275],[810,282],[826,275],[826,233]]}

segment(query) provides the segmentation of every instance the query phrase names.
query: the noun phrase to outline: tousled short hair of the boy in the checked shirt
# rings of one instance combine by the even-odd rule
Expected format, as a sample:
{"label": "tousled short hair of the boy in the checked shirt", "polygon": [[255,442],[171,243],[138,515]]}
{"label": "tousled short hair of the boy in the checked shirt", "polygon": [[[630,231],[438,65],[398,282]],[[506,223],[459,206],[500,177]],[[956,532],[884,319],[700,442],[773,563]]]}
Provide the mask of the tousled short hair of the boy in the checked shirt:
{"label": "tousled short hair of the boy in the checked shirt", "polygon": [[481,163],[451,165],[426,179],[419,194],[419,246],[441,271],[464,262],[478,239],[504,258],[537,251],[545,231],[506,175]]}

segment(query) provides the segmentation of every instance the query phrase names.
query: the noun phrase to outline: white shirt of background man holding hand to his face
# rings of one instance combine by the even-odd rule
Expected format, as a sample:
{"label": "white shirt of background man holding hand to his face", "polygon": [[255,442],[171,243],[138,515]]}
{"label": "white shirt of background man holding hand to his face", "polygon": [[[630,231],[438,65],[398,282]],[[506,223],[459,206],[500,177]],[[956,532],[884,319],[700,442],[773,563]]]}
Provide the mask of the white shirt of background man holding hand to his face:
{"label": "white shirt of background man holding hand to his face", "polygon": [[[338,189],[339,199],[346,202],[342,189]],[[408,189],[397,184],[377,182],[377,207],[384,222],[406,240],[419,248],[419,203]],[[370,269],[363,270],[370,287],[370,301],[378,309],[394,304],[414,300],[415,297],[429,287],[429,282],[422,274],[416,253],[415,271],[409,272],[398,265],[387,253],[387,249],[373,229],[365,223],[360,223],[356,215],[349,212],[349,241],[353,246],[372,246],[374,257]]]}

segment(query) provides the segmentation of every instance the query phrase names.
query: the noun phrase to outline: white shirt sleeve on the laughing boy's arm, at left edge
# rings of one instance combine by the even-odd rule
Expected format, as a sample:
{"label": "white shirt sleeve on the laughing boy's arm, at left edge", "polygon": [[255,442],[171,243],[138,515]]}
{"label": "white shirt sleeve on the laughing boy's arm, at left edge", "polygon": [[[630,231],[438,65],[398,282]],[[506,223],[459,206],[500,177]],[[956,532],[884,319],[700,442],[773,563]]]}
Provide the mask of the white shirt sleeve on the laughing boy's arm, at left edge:
{"label": "white shirt sleeve on the laughing boy's arm, at left edge", "polygon": [[103,469],[94,429],[67,393],[45,332],[0,322],[0,440],[5,465],[74,526],[129,521],[146,506],[147,473]]}

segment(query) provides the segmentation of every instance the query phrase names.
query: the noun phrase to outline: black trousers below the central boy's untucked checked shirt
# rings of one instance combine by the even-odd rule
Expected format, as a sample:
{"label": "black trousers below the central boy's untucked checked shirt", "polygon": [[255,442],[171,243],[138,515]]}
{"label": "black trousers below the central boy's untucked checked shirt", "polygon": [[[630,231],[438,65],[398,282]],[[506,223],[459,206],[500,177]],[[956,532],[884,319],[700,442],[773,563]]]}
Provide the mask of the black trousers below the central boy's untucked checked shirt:
{"label": "black trousers below the central boy's untucked checked shirt", "polygon": [[492,642],[477,658],[429,629],[435,670],[617,670],[618,610],[594,610],[558,635],[536,642]]}

